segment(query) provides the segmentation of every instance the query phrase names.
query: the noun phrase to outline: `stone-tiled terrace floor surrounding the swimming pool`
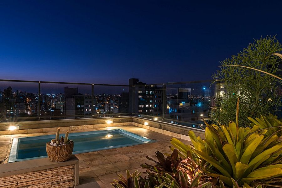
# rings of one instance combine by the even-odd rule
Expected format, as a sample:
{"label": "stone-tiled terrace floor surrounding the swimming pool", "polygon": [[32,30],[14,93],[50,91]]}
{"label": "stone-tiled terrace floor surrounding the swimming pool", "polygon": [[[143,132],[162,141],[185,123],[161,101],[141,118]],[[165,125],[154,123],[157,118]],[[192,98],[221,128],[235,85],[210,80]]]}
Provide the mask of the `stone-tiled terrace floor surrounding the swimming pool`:
{"label": "stone-tiled terrace floor surrounding the swimming pool", "polygon": [[[154,162],[152,163],[152,161],[146,159],[146,156],[155,158],[154,152],[157,150],[165,153],[171,152],[171,150],[169,149],[169,145],[171,145],[170,138],[172,138],[172,136],[157,133],[134,125],[75,130],[70,131],[70,133],[116,128],[121,128],[129,132],[145,136],[147,138],[156,140],[157,142],[117,149],[107,149],[96,152],[76,154],[76,157],[80,160],[80,185],[87,185],[88,183],[90,185],[92,184],[91,182],[96,182],[95,184],[97,185],[97,187],[98,185],[100,185],[100,187],[102,188],[112,187],[110,183],[113,182],[113,179],[118,179],[116,175],[117,173],[125,174],[127,169],[131,173],[135,170],[144,172],[145,170],[141,168],[140,164],[154,164]],[[55,132],[0,136],[0,160],[9,156],[14,137],[41,136],[48,134],[55,134]],[[190,141],[183,139],[180,140],[185,144],[191,144]],[[8,159],[5,160],[5,162],[7,161]]]}

